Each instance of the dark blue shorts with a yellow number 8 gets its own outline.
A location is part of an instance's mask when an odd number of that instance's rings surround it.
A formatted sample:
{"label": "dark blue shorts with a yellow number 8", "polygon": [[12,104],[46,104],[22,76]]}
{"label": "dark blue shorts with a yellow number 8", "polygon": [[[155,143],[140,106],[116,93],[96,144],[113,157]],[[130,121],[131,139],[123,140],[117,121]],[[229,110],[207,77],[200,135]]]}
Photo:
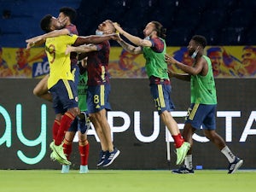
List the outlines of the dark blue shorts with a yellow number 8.
{"label": "dark blue shorts with a yellow number 8", "polygon": [[110,84],[100,84],[95,86],[88,86],[87,91],[87,108],[88,113],[97,113],[103,108],[111,110],[108,102],[108,95],[110,93]]}

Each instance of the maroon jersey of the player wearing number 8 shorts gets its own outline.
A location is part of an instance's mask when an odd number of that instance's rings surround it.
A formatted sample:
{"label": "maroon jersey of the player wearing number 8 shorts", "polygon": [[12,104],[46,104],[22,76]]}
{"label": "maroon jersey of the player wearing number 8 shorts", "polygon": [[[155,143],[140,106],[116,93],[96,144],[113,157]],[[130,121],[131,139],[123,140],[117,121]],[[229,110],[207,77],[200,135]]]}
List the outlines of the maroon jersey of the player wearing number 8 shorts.
{"label": "maroon jersey of the player wearing number 8 shorts", "polygon": [[88,85],[109,84],[108,60],[110,44],[104,41],[96,44],[97,51],[88,53]]}

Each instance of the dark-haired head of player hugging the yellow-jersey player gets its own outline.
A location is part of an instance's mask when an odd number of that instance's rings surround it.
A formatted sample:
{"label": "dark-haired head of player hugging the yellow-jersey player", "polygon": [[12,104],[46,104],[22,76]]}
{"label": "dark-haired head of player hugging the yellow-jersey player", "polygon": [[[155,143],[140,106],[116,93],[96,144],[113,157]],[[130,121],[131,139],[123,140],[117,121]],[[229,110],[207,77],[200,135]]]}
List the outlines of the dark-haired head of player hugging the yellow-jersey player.
{"label": "dark-haired head of player hugging the yellow-jersey player", "polygon": [[75,9],[63,7],[59,11],[58,20],[61,22],[62,26],[67,26],[76,19],[77,12]]}

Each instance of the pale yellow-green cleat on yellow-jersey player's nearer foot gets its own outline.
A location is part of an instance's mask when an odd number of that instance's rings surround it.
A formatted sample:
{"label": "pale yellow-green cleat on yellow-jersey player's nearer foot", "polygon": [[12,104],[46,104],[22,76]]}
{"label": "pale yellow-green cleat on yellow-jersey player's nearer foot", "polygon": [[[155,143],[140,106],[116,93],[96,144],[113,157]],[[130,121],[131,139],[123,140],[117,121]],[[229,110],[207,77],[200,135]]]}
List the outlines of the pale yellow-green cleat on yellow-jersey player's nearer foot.
{"label": "pale yellow-green cleat on yellow-jersey player's nearer foot", "polygon": [[62,145],[55,145],[54,142],[49,144],[49,148],[53,150],[53,152],[50,154],[51,160],[57,160],[62,165],[71,165],[71,162],[67,160],[66,155],[63,152]]}

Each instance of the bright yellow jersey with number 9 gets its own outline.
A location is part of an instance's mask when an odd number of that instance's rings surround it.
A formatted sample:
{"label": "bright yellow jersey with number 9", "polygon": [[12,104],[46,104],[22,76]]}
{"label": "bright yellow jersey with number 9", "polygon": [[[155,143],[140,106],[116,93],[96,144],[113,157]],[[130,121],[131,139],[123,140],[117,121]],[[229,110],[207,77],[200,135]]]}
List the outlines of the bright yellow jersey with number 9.
{"label": "bright yellow jersey with number 9", "polygon": [[48,89],[55,85],[60,79],[73,80],[70,54],[65,55],[65,51],[67,45],[74,44],[77,38],[77,35],[62,35],[46,39],[45,50],[49,61]]}

